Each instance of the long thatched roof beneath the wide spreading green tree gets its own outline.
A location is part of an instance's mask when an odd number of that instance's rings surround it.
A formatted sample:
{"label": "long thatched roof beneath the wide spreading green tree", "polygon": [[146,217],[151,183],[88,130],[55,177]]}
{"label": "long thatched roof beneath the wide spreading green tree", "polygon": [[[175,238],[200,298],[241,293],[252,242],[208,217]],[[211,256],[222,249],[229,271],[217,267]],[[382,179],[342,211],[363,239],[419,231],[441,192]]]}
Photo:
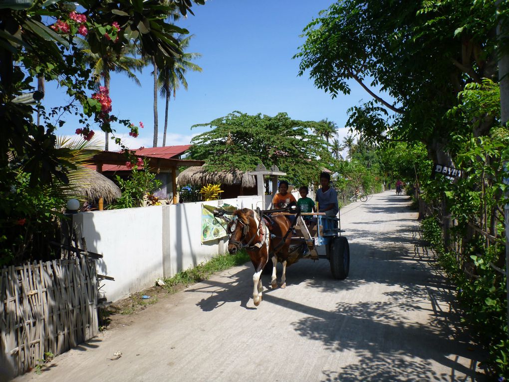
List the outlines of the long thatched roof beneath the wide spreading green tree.
{"label": "long thatched roof beneath the wide spreading green tree", "polygon": [[206,184],[239,184],[243,188],[256,187],[254,176],[240,170],[208,172],[204,167],[193,166],[185,169],[179,174],[177,184],[201,186]]}

